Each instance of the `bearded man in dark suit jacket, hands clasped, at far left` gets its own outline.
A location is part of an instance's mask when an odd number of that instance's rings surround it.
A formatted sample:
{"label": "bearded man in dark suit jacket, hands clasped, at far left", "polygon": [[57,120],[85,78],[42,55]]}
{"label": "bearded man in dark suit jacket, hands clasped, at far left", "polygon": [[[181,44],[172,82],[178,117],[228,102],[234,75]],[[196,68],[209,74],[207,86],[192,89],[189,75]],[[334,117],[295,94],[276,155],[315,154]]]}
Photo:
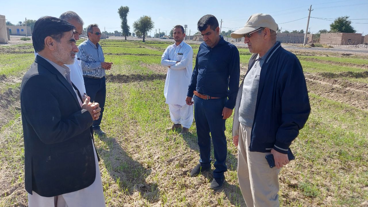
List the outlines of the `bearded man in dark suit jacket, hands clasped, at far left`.
{"label": "bearded man in dark suit jacket, hands clasped, at far left", "polygon": [[74,29],[41,17],[32,33],[38,55],[20,94],[29,207],[105,207],[91,129],[101,109],[83,101],[66,66],[78,52]]}

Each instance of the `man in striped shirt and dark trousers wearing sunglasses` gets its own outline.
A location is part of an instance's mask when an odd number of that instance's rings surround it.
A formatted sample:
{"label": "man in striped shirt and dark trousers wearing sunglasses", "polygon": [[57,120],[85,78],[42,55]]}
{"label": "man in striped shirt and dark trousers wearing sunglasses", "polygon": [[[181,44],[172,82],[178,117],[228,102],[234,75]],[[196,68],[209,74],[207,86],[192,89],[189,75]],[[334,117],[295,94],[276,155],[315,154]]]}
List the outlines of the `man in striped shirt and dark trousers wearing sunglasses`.
{"label": "man in striped shirt and dark trousers wearing sunglasses", "polygon": [[106,72],[111,69],[113,63],[105,62],[100,42],[101,31],[97,24],[87,26],[88,40],[79,44],[78,57],[82,61],[82,72],[86,93],[91,97],[91,102],[95,101],[100,104],[101,115],[98,120],[93,121],[93,132],[99,137],[105,136],[106,133],[101,130],[100,124],[106,100]]}

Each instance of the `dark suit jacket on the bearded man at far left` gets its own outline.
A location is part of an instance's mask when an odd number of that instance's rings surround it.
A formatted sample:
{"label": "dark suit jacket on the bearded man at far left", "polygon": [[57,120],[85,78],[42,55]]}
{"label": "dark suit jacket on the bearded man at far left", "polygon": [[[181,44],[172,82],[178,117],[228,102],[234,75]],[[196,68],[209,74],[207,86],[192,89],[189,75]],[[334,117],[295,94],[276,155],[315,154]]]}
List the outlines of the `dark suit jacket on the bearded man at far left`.
{"label": "dark suit jacket on the bearded man at far left", "polygon": [[37,56],[21,85],[25,189],[52,197],[95,181],[91,114],[66,78]]}

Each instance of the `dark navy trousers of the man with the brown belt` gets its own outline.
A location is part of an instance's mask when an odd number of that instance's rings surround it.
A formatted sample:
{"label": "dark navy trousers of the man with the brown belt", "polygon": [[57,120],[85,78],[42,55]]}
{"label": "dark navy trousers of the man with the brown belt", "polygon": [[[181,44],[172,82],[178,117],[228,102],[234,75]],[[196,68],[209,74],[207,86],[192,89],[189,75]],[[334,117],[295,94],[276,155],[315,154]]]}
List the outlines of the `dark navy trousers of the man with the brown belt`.
{"label": "dark navy trousers of the man with the brown belt", "polygon": [[[227,171],[226,156],[227,143],[225,137],[225,121],[222,119],[222,110],[226,104],[227,98],[222,99],[201,99],[194,96],[194,118],[197,126],[197,136],[199,153],[201,159],[199,163],[203,168],[211,167],[211,136],[213,143],[213,152],[215,154],[214,178],[222,178]],[[211,132],[211,136],[209,133]]]}

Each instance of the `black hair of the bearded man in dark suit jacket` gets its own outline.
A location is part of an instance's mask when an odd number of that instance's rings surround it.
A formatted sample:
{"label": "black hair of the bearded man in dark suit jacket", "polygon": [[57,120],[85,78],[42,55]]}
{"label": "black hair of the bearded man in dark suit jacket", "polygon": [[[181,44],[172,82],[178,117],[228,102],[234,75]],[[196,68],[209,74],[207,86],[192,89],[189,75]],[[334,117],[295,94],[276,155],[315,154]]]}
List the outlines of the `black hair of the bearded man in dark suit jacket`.
{"label": "black hair of the bearded man in dark suit jacket", "polygon": [[50,36],[57,42],[63,38],[64,32],[72,31],[75,27],[67,21],[56,17],[41,17],[35,22],[32,32],[32,44],[36,52],[45,48],[45,38]]}

